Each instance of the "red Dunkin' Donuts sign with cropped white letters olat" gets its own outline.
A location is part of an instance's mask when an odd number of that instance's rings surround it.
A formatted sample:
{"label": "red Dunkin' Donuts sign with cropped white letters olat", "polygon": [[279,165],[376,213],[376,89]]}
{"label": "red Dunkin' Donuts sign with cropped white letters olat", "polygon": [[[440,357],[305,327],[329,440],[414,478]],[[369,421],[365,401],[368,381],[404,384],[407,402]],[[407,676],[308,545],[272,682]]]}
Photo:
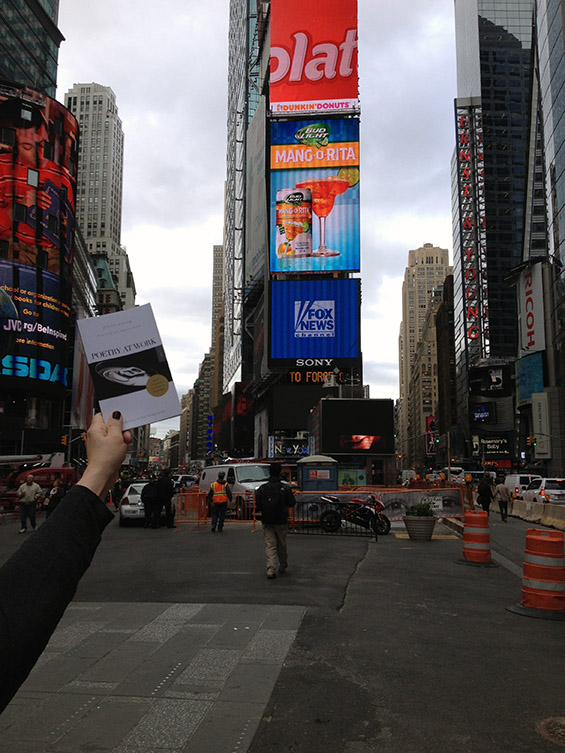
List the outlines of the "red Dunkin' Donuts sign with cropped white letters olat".
{"label": "red Dunkin' Donuts sign with cropped white letters olat", "polygon": [[359,108],[357,0],[272,0],[271,112]]}

